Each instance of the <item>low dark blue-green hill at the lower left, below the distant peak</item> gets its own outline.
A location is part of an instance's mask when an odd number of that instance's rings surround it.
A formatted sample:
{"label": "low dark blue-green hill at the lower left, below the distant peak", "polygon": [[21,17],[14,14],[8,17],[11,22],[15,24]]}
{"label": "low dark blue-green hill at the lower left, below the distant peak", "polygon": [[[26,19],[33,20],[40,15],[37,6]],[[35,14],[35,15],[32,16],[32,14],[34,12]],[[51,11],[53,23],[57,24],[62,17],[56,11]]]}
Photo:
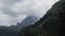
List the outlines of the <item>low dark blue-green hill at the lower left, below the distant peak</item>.
{"label": "low dark blue-green hill at the lower left, below the distant peak", "polygon": [[17,36],[18,31],[9,26],[0,26],[0,36]]}

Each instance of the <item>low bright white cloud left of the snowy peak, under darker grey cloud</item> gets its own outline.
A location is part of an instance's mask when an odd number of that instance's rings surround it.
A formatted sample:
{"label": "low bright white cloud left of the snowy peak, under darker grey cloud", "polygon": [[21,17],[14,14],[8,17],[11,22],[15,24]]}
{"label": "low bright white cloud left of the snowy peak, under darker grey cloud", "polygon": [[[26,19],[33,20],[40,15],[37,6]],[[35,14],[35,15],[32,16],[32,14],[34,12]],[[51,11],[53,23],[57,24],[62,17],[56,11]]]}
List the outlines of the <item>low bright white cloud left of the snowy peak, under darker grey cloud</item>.
{"label": "low bright white cloud left of the snowy peak, under darker grey cloud", "polygon": [[26,18],[26,15],[22,15],[18,17],[10,17],[2,12],[0,12],[0,25],[16,25],[17,22],[21,22],[24,18]]}

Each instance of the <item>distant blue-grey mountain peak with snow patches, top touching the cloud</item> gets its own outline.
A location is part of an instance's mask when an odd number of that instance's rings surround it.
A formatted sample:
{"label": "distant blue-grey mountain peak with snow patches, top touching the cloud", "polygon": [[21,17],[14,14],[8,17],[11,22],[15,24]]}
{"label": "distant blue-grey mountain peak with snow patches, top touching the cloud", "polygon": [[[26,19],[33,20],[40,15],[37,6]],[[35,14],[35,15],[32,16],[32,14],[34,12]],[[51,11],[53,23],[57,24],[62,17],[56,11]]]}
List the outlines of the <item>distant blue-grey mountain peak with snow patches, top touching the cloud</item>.
{"label": "distant blue-grey mountain peak with snow patches, top touching the cloud", "polygon": [[38,17],[28,16],[21,23],[17,23],[16,26],[18,29],[22,29],[23,26],[31,25],[31,24],[34,24],[37,21],[38,21]]}

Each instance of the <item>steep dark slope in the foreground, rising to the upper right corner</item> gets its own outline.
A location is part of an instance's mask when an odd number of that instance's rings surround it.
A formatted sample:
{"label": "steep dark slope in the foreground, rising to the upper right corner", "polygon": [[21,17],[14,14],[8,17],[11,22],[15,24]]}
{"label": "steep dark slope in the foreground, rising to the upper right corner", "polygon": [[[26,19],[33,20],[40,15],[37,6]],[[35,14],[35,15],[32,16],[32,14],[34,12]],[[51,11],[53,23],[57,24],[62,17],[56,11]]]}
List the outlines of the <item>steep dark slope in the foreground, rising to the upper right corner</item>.
{"label": "steep dark slope in the foreground, rising to the upper right corner", "polygon": [[38,22],[23,29],[18,36],[65,36],[65,1],[56,2]]}

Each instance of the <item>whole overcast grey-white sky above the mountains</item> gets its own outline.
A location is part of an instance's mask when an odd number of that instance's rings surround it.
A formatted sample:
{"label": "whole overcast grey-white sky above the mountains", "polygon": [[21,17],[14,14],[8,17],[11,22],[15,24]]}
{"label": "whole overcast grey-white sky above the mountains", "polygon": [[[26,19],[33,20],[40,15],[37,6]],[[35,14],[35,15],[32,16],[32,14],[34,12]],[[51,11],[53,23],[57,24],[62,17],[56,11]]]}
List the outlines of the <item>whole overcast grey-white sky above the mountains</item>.
{"label": "whole overcast grey-white sky above the mountains", "polygon": [[0,25],[15,25],[26,16],[41,18],[58,0],[0,0]]}

